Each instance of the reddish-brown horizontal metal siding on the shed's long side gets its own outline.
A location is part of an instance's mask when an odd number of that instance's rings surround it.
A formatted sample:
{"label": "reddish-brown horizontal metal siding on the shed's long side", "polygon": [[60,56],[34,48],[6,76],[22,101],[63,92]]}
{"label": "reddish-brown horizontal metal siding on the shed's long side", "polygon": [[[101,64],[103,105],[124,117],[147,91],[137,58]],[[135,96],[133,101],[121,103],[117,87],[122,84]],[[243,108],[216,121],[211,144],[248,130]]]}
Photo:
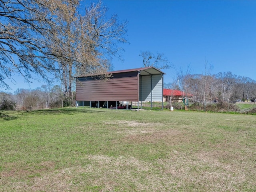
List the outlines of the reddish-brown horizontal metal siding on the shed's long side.
{"label": "reddish-brown horizontal metal siding on the shed's long side", "polygon": [[138,72],[113,74],[113,78],[77,78],[77,101],[138,101]]}

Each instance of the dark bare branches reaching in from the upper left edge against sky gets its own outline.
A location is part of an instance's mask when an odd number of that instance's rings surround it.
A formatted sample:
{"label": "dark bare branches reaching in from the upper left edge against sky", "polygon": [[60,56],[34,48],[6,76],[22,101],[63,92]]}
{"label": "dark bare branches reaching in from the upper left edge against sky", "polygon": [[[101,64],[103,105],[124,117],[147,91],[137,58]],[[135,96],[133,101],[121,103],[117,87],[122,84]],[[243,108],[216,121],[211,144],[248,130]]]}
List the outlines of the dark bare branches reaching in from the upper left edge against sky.
{"label": "dark bare branches reaching in from the upper left edge against sky", "polygon": [[4,81],[21,74],[31,82],[33,73],[47,78],[46,73],[55,70],[57,60],[66,55],[50,46],[56,34],[58,15],[54,10],[73,1],[58,0],[0,0],[0,86],[8,88]]}

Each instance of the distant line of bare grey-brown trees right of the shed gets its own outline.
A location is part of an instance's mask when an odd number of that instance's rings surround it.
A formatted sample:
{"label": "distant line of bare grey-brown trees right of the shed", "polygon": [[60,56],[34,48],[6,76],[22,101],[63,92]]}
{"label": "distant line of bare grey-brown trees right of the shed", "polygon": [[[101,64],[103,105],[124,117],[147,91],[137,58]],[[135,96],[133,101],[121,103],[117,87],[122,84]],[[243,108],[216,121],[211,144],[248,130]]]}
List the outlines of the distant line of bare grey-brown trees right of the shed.
{"label": "distant line of bare grey-brown trees right of the shed", "polygon": [[182,74],[165,88],[192,94],[196,102],[236,102],[256,99],[256,81],[248,77],[220,72],[218,74]]}

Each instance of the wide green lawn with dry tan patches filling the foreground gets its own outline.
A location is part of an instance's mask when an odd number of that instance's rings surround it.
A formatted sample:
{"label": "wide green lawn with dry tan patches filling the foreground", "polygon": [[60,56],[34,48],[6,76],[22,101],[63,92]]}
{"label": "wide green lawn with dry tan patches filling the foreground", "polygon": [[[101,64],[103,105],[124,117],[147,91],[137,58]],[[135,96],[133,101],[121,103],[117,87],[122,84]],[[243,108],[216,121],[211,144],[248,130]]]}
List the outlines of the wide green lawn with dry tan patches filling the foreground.
{"label": "wide green lawn with dry tan patches filling the foreground", "polygon": [[256,116],[1,112],[0,191],[256,191]]}

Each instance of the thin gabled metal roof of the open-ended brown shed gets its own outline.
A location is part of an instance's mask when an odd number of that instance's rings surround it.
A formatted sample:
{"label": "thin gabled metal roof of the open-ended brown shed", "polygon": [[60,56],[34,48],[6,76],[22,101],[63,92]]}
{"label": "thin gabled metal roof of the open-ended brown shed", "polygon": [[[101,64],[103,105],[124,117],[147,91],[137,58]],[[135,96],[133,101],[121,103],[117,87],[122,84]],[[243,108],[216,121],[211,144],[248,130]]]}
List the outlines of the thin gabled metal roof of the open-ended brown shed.
{"label": "thin gabled metal roof of the open-ended brown shed", "polygon": [[[126,69],[126,70],[118,70],[118,71],[108,71],[106,72],[106,74],[116,74],[116,73],[125,73],[125,72],[133,72],[133,71],[137,71],[140,72],[140,75],[144,76],[144,75],[156,75],[156,74],[166,74],[160,70],[158,70],[157,68],[154,67],[143,67],[143,68],[136,68],[136,69]],[[100,74],[99,74],[100,75]],[[91,76],[91,75],[87,75],[87,76]],[[86,76],[78,76],[78,77],[86,77]]]}

